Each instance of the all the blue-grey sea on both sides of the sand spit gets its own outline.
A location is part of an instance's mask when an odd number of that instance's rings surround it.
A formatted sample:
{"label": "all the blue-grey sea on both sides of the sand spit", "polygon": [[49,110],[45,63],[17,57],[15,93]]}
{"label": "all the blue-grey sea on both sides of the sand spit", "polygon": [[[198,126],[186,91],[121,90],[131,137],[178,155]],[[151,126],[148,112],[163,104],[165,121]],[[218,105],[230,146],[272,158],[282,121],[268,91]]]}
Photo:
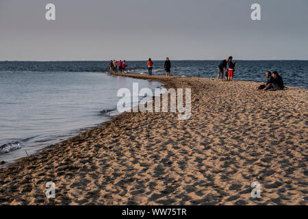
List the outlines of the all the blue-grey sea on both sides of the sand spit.
{"label": "all the blue-grey sea on both sides of the sand spit", "polygon": [[[171,75],[216,77],[220,61],[172,61]],[[157,88],[149,82],[107,74],[109,62],[0,62],[0,160],[11,162],[99,125],[116,114],[119,88]],[[147,73],[146,61],[127,62]],[[154,61],[164,75],[164,61]],[[266,81],[277,70],[287,86],[308,88],[308,61],[238,61],[234,79]]]}

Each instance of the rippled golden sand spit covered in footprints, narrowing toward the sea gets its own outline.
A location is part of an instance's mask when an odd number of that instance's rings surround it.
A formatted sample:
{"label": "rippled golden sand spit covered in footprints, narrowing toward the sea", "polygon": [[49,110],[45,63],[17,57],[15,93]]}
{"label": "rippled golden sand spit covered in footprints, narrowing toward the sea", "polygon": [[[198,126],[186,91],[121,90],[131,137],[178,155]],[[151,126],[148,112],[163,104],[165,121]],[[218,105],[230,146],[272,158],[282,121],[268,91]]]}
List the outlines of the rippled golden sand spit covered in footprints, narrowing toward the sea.
{"label": "rippled golden sand spit covered in footprints, narrowing toward the sea", "polygon": [[19,159],[0,170],[1,205],[307,205],[307,89],[125,76],[191,88],[191,118],[126,112]]}

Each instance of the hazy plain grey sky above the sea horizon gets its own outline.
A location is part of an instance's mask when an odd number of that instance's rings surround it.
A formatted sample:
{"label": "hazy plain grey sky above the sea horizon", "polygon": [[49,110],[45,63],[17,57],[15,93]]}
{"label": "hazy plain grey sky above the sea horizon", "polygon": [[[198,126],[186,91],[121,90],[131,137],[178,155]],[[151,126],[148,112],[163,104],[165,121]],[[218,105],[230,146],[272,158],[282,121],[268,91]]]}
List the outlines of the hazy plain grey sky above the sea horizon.
{"label": "hazy plain grey sky above the sea horizon", "polygon": [[308,60],[307,9],[307,0],[0,0],[0,60]]}

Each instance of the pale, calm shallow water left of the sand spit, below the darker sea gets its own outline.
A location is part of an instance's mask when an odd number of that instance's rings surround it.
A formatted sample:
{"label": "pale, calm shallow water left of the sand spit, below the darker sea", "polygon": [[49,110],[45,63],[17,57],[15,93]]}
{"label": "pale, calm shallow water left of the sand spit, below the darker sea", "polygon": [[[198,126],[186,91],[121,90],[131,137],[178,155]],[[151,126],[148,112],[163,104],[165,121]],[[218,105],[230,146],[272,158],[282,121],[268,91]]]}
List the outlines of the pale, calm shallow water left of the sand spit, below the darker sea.
{"label": "pale, calm shallow water left of the sand spit, below the darker sea", "polygon": [[106,73],[0,72],[0,161],[11,162],[117,114],[119,88],[161,83]]}

